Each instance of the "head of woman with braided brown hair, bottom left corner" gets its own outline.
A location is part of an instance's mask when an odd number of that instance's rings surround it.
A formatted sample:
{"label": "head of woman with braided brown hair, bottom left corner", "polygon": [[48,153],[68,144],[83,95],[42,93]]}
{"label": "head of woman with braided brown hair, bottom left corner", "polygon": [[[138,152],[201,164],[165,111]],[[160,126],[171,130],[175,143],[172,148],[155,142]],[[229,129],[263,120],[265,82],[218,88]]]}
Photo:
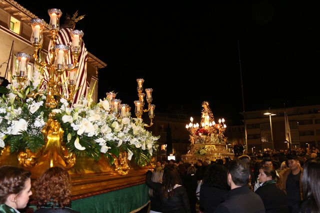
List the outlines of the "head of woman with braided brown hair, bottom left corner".
{"label": "head of woman with braided brown hair, bottom left corner", "polygon": [[24,208],[32,194],[31,172],[11,165],[0,167],[0,204]]}

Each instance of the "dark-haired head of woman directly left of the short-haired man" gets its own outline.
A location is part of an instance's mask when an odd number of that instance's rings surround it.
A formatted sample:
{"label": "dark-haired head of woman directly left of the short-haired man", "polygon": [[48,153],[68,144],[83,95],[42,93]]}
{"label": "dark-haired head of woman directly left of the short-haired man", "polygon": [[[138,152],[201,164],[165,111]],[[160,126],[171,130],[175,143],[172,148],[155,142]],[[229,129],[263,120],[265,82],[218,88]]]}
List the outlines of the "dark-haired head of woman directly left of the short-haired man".
{"label": "dark-haired head of woman directly left of the short-haired man", "polygon": [[216,163],[209,165],[204,173],[203,185],[227,189],[226,175],[225,166]]}

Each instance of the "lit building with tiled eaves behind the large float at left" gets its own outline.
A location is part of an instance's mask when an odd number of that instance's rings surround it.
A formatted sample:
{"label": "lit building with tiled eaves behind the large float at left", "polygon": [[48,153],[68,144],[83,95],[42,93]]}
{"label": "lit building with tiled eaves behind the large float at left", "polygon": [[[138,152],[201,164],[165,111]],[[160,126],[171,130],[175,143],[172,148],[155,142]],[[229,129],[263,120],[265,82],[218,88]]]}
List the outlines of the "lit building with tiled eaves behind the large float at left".
{"label": "lit building with tiled eaves behind the large float at left", "polygon": [[[26,8],[14,0],[0,0],[0,76],[10,80],[10,70],[8,66],[9,55],[16,52],[25,52],[30,55],[33,54],[33,47],[31,46],[30,36],[32,29],[30,26],[31,18],[37,18]],[[43,17],[41,17],[43,18]],[[43,48],[41,58],[45,58],[47,54],[47,47],[50,41],[49,27],[45,24],[43,29]],[[11,46],[13,43],[13,51]],[[90,49],[88,49],[89,51]],[[7,68],[8,66],[8,68]],[[33,61],[28,64],[30,70],[33,69]],[[87,83],[90,88],[94,90],[92,99],[97,101],[97,87],[98,87],[98,70],[106,66],[106,63],[98,59],[96,56],[88,52],[87,66]],[[31,73],[29,73],[29,77]],[[95,83],[96,82],[96,83]]]}

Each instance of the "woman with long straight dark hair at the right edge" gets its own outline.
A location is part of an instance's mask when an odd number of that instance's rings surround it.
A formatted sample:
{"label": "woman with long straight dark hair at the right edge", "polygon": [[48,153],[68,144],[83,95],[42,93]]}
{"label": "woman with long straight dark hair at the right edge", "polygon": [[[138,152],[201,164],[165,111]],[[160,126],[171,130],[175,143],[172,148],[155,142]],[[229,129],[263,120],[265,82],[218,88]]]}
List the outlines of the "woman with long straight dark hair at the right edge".
{"label": "woman with long straight dark hair at the right edge", "polygon": [[294,206],[292,212],[320,212],[320,160],[319,158],[304,162],[302,175],[303,200],[299,206]]}

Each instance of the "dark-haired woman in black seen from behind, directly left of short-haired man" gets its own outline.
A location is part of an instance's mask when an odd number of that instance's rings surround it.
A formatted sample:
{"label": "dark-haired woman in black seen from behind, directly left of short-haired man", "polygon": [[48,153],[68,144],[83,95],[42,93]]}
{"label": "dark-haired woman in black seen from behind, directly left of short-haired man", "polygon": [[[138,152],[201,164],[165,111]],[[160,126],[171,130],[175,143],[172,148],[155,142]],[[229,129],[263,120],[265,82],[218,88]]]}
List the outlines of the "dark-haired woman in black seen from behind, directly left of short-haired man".
{"label": "dark-haired woman in black seen from behind, directly left of short-haired man", "polygon": [[228,191],[227,170],[220,164],[210,165],[204,174],[200,189],[200,210],[213,212],[218,204],[224,201]]}

